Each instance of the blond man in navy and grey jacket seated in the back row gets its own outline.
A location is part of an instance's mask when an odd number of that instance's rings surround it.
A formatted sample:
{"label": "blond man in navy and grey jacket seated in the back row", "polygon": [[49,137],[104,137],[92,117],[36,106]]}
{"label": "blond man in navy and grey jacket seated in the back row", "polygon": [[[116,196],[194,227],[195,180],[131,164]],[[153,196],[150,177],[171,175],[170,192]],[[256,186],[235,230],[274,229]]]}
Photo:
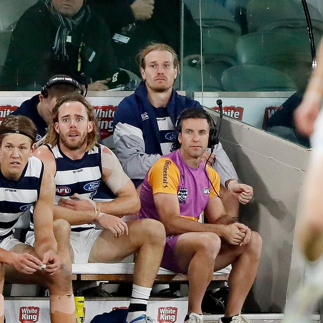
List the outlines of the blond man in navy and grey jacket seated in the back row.
{"label": "blond man in navy and grey jacket seated in the back row", "polygon": [[[144,81],[134,94],[120,102],[113,121],[116,155],[135,186],[139,186],[138,190],[149,168],[161,155],[171,151],[178,114],[188,107],[202,108],[199,102],[172,89],[179,63],[171,47],[150,45],[140,53],[139,61]],[[220,195],[226,212],[237,217],[238,201],[247,203],[253,195],[252,187],[238,182],[236,170],[221,143],[213,154],[209,161],[220,173]],[[205,161],[209,155],[205,152]]]}

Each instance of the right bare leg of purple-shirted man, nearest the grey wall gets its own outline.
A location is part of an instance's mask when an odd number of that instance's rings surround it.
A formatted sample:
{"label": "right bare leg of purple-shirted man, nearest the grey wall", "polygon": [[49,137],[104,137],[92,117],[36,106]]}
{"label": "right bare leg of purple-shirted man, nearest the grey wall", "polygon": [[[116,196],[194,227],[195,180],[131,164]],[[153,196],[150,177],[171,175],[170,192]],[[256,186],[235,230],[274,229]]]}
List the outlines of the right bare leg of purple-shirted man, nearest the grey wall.
{"label": "right bare leg of purple-shirted man, nearest the grey wall", "polygon": [[215,259],[214,270],[232,263],[226,317],[241,313],[242,305],[258,270],[261,247],[262,241],[256,232],[251,233],[250,241],[242,247],[222,243],[219,255]]}

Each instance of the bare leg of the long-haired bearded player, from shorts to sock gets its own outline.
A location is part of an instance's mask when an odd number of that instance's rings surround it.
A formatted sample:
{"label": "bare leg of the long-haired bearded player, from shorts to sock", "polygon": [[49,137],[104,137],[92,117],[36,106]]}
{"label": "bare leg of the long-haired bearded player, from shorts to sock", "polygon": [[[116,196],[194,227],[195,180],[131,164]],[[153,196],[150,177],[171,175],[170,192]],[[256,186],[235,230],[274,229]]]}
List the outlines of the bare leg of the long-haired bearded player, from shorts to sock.
{"label": "bare leg of the long-haired bearded player, from shorts to sock", "polygon": [[127,222],[129,234],[114,238],[104,230],[94,242],[89,262],[116,262],[138,251],[134,270],[134,283],[152,287],[156,278],[163,248],[165,229],[159,221],[144,219]]}

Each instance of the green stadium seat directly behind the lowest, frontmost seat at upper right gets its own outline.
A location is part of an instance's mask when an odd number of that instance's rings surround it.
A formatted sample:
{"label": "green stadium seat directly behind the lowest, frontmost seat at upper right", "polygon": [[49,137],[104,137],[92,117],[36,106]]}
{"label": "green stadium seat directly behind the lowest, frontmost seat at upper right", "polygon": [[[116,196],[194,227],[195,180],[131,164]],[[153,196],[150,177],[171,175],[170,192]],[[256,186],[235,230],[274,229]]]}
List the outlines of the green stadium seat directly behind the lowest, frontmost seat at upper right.
{"label": "green stadium seat directly behind the lowest, frontmost seat at upper right", "polygon": [[244,35],[237,42],[238,60],[241,64],[280,70],[299,88],[305,87],[312,71],[312,57],[310,43],[304,37],[302,42],[291,35],[270,31]]}

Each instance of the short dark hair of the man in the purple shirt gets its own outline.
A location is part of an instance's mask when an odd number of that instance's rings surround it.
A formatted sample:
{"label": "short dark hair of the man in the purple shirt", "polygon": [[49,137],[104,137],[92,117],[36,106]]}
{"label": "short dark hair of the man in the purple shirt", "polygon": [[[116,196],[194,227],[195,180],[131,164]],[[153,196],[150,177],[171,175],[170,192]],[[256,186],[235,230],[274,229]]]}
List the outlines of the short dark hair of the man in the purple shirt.
{"label": "short dark hair of the man in the purple shirt", "polygon": [[206,119],[209,125],[209,130],[212,128],[213,121],[210,114],[203,110],[202,108],[186,108],[179,113],[176,123],[175,131],[177,133],[176,141],[171,145],[171,150],[175,151],[180,148],[180,143],[178,141],[178,134],[182,131],[183,120],[185,119]]}

